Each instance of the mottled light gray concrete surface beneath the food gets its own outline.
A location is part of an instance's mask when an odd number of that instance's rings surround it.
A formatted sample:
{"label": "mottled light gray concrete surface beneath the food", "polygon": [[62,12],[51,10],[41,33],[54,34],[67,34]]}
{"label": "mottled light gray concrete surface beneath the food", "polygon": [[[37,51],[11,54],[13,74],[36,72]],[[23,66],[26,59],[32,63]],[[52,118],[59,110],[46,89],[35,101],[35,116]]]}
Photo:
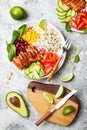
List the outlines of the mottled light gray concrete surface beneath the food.
{"label": "mottled light gray concrete surface beneath the food", "polygon": [[[87,130],[87,34],[65,31],[64,25],[56,17],[56,2],[57,0],[0,0],[0,130]],[[21,21],[13,20],[9,10],[14,5],[22,6],[27,11],[28,18]],[[76,52],[71,49],[67,57],[77,54],[82,48],[80,62],[76,64],[73,59],[66,60],[51,81],[51,83],[62,84],[71,90],[74,88],[78,90],[79,113],[76,120],[68,127],[47,122],[38,127],[35,126],[35,121],[40,116],[27,99],[26,90],[30,80],[18,73],[7,58],[6,41],[10,41],[12,30],[28,21],[43,18],[55,25],[66,38],[72,41],[72,47],[77,48]],[[72,65],[75,66],[74,79],[68,83],[61,82],[60,78],[71,72]],[[5,80],[10,71],[13,72],[13,76],[9,84],[6,85]],[[46,80],[41,80],[41,82],[47,83]],[[22,118],[8,108],[5,96],[9,91],[17,91],[23,95],[30,111],[29,118]]]}

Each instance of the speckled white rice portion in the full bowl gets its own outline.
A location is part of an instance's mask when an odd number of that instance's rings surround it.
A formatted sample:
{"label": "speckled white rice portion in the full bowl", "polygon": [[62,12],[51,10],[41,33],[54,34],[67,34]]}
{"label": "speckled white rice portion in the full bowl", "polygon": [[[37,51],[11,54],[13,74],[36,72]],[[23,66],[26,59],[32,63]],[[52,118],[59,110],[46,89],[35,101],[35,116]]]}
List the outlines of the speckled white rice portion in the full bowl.
{"label": "speckled white rice portion in the full bowl", "polygon": [[41,35],[33,45],[44,48],[46,51],[58,52],[61,50],[61,38],[59,32],[52,26],[47,26],[46,33]]}

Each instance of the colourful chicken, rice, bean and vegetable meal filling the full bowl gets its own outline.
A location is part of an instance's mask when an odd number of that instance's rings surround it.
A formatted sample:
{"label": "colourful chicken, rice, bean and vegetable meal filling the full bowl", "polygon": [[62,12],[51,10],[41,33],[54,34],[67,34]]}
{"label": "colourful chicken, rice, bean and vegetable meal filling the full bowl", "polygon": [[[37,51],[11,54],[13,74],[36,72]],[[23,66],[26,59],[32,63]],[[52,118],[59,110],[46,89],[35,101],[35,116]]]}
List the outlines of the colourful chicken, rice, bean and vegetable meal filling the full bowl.
{"label": "colourful chicken, rice, bean and vegetable meal filling the full bowl", "polygon": [[[44,33],[38,33],[36,26]],[[7,43],[8,59],[27,77],[41,79],[59,61],[62,40],[59,31],[45,19],[24,24],[13,31],[11,42]]]}

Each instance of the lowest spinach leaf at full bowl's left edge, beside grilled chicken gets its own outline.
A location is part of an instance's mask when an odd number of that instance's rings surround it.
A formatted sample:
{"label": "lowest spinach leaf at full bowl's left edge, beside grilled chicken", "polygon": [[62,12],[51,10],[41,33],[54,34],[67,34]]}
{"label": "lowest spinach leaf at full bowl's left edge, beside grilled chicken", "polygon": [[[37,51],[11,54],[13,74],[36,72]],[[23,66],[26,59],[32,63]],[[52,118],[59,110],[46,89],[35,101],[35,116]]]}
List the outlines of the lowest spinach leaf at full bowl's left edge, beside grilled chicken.
{"label": "lowest spinach leaf at full bowl's left edge, beside grilled chicken", "polygon": [[16,56],[16,47],[14,44],[7,43],[7,51],[8,51],[8,59],[12,61],[12,59]]}

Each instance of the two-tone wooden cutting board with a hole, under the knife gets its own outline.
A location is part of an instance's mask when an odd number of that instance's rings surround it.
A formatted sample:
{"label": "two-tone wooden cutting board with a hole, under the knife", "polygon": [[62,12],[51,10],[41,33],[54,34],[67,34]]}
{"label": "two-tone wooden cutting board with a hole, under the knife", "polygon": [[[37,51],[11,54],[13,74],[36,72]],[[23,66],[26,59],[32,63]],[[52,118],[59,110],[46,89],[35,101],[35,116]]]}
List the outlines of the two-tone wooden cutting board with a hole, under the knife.
{"label": "two-tone wooden cutting board with a hole, under the knife", "polygon": [[[60,85],[43,84],[36,81],[33,81],[29,84],[27,89],[28,99],[41,116],[47,113],[61,100],[61,98],[55,99],[55,94],[58,91],[59,86]],[[54,98],[53,104],[50,104],[46,101],[46,99],[43,97],[43,92],[49,92],[53,96]],[[68,94],[69,92],[70,90],[65,88],[65,95]],[[62,111],[65,108],[65,106],[68,105],[74,106],[76,110],[64,116],[62,114]],[[75,95],[73,95],[60,109],[56,110],[49,118],[47,118],[47,121],[60,124],[63,126],[68,126],[75,119],[78,112],[78,108],[79,108],[78,99]]]}

